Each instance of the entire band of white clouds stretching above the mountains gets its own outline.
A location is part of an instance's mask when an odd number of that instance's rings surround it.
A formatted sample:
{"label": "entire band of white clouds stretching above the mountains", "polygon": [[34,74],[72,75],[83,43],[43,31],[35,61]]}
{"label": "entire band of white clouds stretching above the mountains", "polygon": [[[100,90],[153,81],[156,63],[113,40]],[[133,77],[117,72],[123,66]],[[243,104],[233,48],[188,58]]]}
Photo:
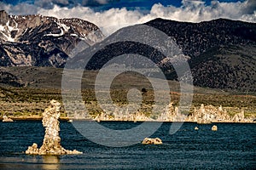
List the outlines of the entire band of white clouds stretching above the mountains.
{"label": "entire band of white clouds stretching above the mountains", "polygon": [[[104,3],[105,0],[97,0]],[[244,20],[256,22],[256,10],[254,0],[247,0],[243,3],[219,3],[212,1],[211,5],[206,5],[202,1],[183,0],[182,7],[165,7],[160,3],[154,4],[149,14],[143,14],[139,10],[127,10],[126,8],[111,8],[103,12],[95,12],[91,8],[76,6],[73,8],[54,6],[51,9],[36,8],[30,5],[23,6],[18,10],[17,6],[5,5],[5,10],[9,13],[18,13],[32,9],[38,14],[55,16],[57,18],[80,18],[89,20],[99,26],[105,35],[110,35],[113,31],[124,26],[145,23],[155,18],[168,20],[199,22],[202,20],[213,20],[217,18],[227,18],[231,20]]]}

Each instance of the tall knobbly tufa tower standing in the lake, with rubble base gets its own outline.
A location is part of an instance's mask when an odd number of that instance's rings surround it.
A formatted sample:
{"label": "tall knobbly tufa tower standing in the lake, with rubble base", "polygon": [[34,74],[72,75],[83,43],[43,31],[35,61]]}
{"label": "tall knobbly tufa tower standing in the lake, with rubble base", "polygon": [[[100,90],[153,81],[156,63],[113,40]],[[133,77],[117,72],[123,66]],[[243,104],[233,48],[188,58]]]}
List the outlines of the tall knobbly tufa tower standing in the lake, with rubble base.
{"label": "tall knobbly tufa tower standing in the lake, with rubble base", "polygon": [[82,154],[78,150],[65,150],[61,146],[61,138],[59,136],[61,104],[52,99],[50,106],[44,110],[43,113],[43,126],[45,127],[44,142],[38,149],[38,144],[33,143],[26,150],[26,154],[30,155],[65,155],[65,154]]}

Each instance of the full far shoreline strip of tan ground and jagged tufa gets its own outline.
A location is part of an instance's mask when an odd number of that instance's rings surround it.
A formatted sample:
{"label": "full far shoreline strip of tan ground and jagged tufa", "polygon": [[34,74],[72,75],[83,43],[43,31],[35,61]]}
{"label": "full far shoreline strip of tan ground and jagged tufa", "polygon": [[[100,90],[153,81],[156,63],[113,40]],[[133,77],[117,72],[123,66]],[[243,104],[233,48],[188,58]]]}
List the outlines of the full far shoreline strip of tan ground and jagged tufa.
{"label": "full far shoreline strip of tan ground and jagged tufa", "polygon": [[[3,119],[5,118],[5,119]],[[0,117],[0,120],[6,122],[7,118],[14,121],[40,121],[43,116],[4,116]],[[178,107],[166,105],[166,109],[156,118],[146,116],[142,112],[129,113],[128,111],[119,111],[116,109],[113,113],[101,113],[94,117],[86,117],[84,113],[78,113],[77,115],[61,116],[59,118],[61,121],[72,122],[75,121],[96,121],[96,122],[196,122],[198,124],[208,124],[215,122],[231,122],[231,123],[256,123],[255,117],[245,117],[244,111],[236,113],[235,116],[230,116],[227,111],[225,111],[222,106],[215,107],[212,105],[201,105],[199,109],[196,109],[189,114],[189,116],[184,116],[178,110]]]}

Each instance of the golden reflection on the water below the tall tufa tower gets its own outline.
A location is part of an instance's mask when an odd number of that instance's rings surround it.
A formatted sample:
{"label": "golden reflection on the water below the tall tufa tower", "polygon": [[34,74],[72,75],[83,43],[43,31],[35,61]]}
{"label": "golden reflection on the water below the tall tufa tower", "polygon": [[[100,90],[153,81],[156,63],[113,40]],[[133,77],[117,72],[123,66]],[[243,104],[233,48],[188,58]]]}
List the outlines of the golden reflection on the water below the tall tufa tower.
{"label": "golden reflection on the water below the tall tufa tower", "polygon": [[59,156],[43,156],[43,169],[60,169]]}

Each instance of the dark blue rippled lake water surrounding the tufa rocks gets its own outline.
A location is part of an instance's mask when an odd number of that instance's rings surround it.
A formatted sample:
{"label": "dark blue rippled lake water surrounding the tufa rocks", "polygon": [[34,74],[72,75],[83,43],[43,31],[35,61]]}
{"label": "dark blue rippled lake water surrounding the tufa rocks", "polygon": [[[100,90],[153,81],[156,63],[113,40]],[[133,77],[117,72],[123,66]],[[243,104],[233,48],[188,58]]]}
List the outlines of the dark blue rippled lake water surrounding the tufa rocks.
{"label": "dark blue rippled lake water surrounding the tufa rocks", "polygon": [[[101,124],[125,129],[140,123]],[[163,123],[151,136],[164,144],[114,148],[90,142],[72,123],[61,122],[61,145],[84,154],[27,156],[29,145],[43,143],[42,122],[0,122],[0,169],[256,169],[256,124],[216,123],[218,131],[213,132],[212,124],[183,123],[172,135],[171,125]]]}

